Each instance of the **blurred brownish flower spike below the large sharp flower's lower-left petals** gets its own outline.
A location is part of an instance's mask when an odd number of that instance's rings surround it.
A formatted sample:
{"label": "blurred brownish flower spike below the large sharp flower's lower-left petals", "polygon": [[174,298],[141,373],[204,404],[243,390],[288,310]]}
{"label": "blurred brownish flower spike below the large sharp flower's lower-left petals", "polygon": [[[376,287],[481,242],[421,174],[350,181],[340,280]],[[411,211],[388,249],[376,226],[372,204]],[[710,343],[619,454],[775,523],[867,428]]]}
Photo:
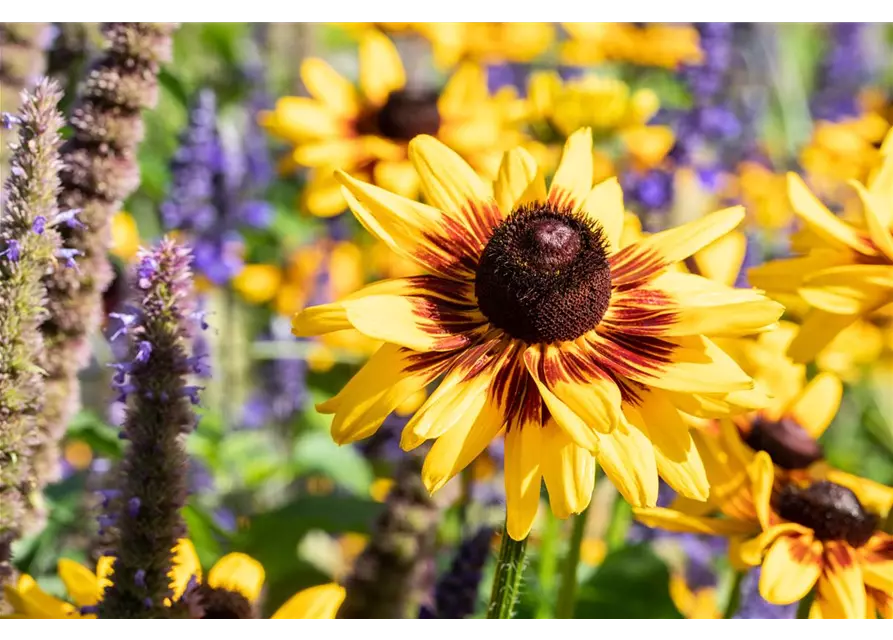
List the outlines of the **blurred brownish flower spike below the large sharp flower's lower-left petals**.
{"label": "blurred brownish flower spike below the large sharp flower's lower-left petals", "polygon": [[344,585],[347,594],[338,620],[415,618],[439,516],[422,484],[421,471],[418,450],[407,454],[397,467],[384,512]]}

